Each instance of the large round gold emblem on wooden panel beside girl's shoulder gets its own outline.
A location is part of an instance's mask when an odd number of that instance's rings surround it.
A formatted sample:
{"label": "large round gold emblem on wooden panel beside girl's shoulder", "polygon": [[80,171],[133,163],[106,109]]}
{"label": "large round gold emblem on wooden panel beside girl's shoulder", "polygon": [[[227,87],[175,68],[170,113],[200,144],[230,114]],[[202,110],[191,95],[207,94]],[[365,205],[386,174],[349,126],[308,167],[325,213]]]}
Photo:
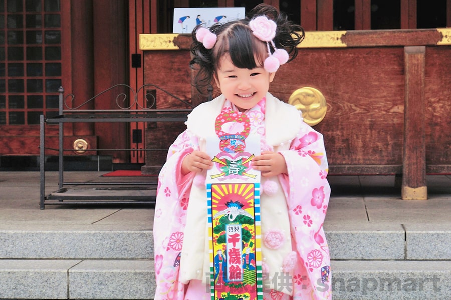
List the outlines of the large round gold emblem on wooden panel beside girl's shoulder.
{"label": "large round gold emblem on wooden panel beside girl's shoulder", "polygon": [[313,87],[302,87],[295,90],[288,99],[288,104],[301,110],[304,122],[310,126],[320,123],[326,116],[326,99],[318,89]]}

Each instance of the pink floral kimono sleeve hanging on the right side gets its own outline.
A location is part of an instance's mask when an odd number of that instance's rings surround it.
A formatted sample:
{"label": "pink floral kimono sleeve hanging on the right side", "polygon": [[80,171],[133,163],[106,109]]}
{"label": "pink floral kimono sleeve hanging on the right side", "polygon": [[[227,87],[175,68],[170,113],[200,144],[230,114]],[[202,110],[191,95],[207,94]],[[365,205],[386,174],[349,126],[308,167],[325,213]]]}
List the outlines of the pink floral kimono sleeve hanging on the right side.
{"label": "pink floral kimono sleeve hanging on the right side", "polygon": [[280,152],[287,163],[283,184],[287,196],[293,245],[300,261],[293,273],[293,298],[330,299],[330,254],[323,223],[330,197],[323,136],[301,126],[290,150]]}

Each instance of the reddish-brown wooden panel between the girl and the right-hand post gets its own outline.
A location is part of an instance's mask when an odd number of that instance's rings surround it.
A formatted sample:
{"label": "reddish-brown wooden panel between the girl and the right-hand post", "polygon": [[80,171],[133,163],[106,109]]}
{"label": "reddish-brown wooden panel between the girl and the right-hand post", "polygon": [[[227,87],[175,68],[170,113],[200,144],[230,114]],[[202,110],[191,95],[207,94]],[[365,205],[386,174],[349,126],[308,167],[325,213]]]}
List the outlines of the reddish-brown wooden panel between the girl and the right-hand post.
{"label": "reddish-brown wooden panel between the girl and the right-hand post", "polygon": [[270,91],[288,101],[305,86],[320,90],[328,103],[316,129],[331,165],[402,164],[402,47],[301,49],[279,69]]}

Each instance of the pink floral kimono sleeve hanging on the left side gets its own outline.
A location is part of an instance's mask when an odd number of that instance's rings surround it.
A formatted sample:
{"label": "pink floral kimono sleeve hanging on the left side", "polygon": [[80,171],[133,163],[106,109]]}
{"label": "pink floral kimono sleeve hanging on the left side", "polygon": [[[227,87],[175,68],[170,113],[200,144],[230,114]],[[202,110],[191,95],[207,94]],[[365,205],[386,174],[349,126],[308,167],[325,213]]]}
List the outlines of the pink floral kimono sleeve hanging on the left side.
{"label": "pink floral kimono sleeve hanging on the left side", "polygon": [[169,147],[166,163],[158,176],[153,226],[155,251],[155,300],[183,300],[184,284],[179,280],[180,252],[186,225],[186,209],[194,174],[181,175],[186,155],[198,148],[188,130]]}

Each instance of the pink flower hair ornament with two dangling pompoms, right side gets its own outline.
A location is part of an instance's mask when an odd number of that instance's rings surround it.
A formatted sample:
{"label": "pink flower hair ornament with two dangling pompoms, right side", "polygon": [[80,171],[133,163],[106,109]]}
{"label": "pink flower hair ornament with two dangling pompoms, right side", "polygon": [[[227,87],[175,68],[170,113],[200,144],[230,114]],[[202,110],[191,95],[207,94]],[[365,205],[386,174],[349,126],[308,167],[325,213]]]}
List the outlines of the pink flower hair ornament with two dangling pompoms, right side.
{"label": "pink flower hair ornament with two dangling pompoms, right side", "polygon": [[[279,69],[279,66],[287,63],[289,59],[288,52],[284,49],[277,49],[274,44],[273,39],[276,36],[277,24],[273,20],[262,15],[251,20],[249,22],[249,27],[255,37],[266,42],[268,46],[268,57],[263,62],[263,67],[266,71],[274,73]],[[270,46],[275,49],[273,54],[271,54]]]}

